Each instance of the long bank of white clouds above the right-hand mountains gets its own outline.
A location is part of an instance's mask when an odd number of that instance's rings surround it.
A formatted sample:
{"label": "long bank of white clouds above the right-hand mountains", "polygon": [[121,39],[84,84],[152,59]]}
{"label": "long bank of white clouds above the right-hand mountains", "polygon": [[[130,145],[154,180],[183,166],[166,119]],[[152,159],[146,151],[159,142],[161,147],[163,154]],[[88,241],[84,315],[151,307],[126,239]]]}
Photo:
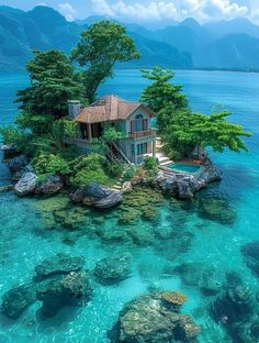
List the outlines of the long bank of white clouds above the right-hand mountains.
{"label": "long bank of white clouds above the right-hand mountains", "polygon": [[131,21],[162,21],[165,19],[183,20],[193,16],[201,22],[219,19],[234,19],[248,14],[248,7],[232,0],[164,0],[133,1],[91,0],[95,14]]}

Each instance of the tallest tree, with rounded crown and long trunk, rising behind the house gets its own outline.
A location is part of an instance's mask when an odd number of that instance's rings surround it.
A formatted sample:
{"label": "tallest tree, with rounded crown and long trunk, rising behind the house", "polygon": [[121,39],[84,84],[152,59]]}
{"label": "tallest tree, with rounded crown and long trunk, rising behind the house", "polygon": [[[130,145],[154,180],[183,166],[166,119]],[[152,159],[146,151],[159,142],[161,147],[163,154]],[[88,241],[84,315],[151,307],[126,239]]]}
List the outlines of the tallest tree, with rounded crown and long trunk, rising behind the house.
{"label": "tallest tree, with rounded crown and long trunk, rising behind the house", "polygon": [[89,102],[97,97],[98,87],[113,76],[116,62],[139,58],[133,38],[126,29],[112,21],[101,21],[82,32],[71,58],[86,68],[85,88]]}

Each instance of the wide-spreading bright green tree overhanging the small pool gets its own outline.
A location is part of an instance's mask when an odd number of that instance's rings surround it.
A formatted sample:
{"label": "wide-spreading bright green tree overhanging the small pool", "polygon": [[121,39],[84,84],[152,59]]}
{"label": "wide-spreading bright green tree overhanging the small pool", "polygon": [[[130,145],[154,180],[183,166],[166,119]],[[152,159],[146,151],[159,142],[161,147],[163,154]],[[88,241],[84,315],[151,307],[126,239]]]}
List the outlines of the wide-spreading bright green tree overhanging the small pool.
{"label": "wide-spreading bright green tree overhanging the small pool", "polygon": [[219,153],[225,148],[247,151],[243,137],[251,134],[241,125],[228,122],[230,113],[227,111],[205,115],[190,110],[176,111],[172,106],[168,106],[161,110],[161,114],[170,118],[162,133],[165,148],[169,154],[177,152],[179,157],[183,157],[194,148],[202,152],[206,147]]}

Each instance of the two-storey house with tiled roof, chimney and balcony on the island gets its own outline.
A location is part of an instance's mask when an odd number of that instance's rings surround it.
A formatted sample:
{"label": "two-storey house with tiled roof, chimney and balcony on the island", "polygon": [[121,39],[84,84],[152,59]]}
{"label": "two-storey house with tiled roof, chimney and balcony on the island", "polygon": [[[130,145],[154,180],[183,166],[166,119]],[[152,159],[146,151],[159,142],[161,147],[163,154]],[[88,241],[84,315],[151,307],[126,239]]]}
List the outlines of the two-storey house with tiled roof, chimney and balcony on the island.
{"label": "two-storey house with tiled roof, chimney and balcony on the island", "polygon": [[79,101],[69,101],[69,115],[79,124],[80,146],[91,145],[93,139],[102,136],[106,125],[113,125],[125,134],[125,139],[113,142],[110,155],[114,159],[140,164],[146,155],[156,155],[156,131],[151,128],[155,113],[140,102],[131,102],[115,96],[106,96],[87,108]]}

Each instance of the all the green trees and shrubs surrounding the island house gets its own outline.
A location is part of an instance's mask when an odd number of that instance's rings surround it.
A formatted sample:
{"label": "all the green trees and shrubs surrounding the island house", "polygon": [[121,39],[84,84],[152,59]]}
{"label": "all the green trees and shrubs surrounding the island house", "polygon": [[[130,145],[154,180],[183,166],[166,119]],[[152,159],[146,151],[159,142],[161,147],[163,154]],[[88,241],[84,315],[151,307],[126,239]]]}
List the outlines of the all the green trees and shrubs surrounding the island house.
{"label": "all the green trees and shrubs surrounding the island house", "polygon": [[[92,103],[100,85],[113,77],[116,63],[139,56],[126,29],[111,21],[94,23],[85,31],[70,57],[60,51],[34,52],[34,59],[27,64],[31,84],[18,91],[21,112],[15,123],[2,126],[0,133],[3,144],[12,144],[31,159],[37,184],[53,176],[69,188],[91,182],[112,186],[122,176],[124,181],[134,177],[154,180],[158,164],[151,157],[138,168],[106,158],[108,143],[123,139],[123,133],[112,126],[93,142],[90,155],[81,154],[72,143],[77,123],[67,110],[69,99]],[[150,85],[140,101],[157,113],[158,132],[171,159],[192,158],[193,152],[202,158],[206,147],[247,151],[243,137],[250,133],[229,123],[226,110],[211,115],[193,113],[182,86],[172,82],[172,70],[155,67],[143,70],[143,76]]]}

